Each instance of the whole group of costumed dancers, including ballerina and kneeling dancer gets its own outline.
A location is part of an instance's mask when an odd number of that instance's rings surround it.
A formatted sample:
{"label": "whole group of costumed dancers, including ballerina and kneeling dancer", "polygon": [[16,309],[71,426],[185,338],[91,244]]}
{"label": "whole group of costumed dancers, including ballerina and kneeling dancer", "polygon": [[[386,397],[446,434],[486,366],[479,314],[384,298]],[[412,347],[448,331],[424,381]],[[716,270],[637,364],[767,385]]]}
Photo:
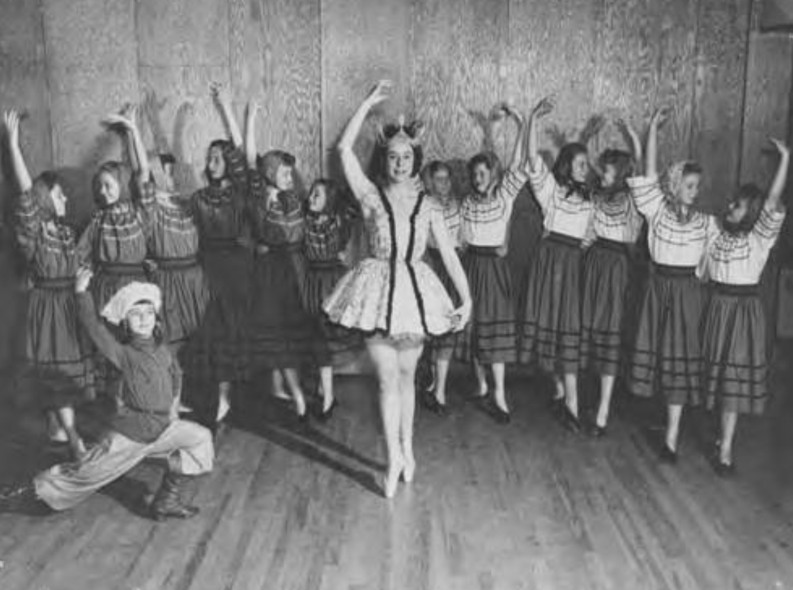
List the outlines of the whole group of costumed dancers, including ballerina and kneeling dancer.
{"label": "whole group of costumed dancers, including ballerina and kneeling dancer", "polygon": [[[29,176],[19,117],[6,113],[17,242],[31,285],[25,374],[45,400],[51,439],[73,456],[4,490],[0,506],[70,508],[160,456],[168,467],[151,515],[189,517],[197,508],[184,503],[182,488],[212,469],[214,451],[208,428],[180,418],[183,373],[212,400],[213,423],[231,408],[232,384],[258,383],[258,374],[307,420],[300,370],[314,367],[316,414],[328,420],[338,405],[334,367],[363,348],[377,376],[386,497],[416,473],[416,367],[424,347],[435,378],[423,401],[439,415],[454,359],[473,366],[473,397],[488,399],[492,416],[508,423],[505,366],[522,363],[553,376],[554,414],[565,427],[602,436],[623,375],[631,392],[664,400],[659,451],[668,462],[677,457],[684,407],[705,400],[722,416],[714,467],[732,473],[737,416],[763,412],[768,398],[757,285],[784,219],[785,144],[772,140],[780,162],[768,194],[741,186],[717,218],[695,207],[707,174],[699,164],[675,163],[658,174],[664,109],[649,121],[644,149],[623,123],[630,151],[608,148],[591,161],[586,145],[566,144],[549,170],[538,126],[553,102],[543,99],[527,117],[500,105],[518,131],[511,161],[502,168],[490,152],[474,155],[469,193],[458,198],[447,163],[423,167],[418,122],[400,118],[378,128],[371,174],[363,170],[354,144],[370,111],[389,98],[392,83],[384,80],[339,140],[349,199],[324,178],[301,193],[292,155],[257,152],[258,105],[248,105],[243,137],[224,88],[211,90],[228,139],[209,145],[207,186],[179,194],[173,156],[149,157],[136,109],[127,106],[105,122],[128,142],[129,162],[99,167],[97,209],[81,236],[65,221],[57,175]],[[525,283],[515,285],[504,255],[527,183],[544,234],[526,253]],[[366,255],[348,267],[356,226]],[[629,252],[643,226],[649,278],[628,331]],[[583,423],[578,404],[584,369],[600,376],[591,423]],[[117,407],[107,433],[88,448],[73,408],[95,389]]]}

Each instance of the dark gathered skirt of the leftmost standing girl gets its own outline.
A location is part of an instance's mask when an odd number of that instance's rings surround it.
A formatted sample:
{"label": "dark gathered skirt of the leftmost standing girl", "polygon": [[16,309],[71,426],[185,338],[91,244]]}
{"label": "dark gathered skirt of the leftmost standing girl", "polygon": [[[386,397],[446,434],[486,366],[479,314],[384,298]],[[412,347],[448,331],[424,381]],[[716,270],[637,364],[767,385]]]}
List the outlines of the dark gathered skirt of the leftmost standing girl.
{"label": "dark gathered skirt of the leftmost standing girl", "polygon": [[28,401],[44,409],[90,398],[90,347],[79,324],[74,289],[70,278],[40,279],[30,292],[20,377]]}

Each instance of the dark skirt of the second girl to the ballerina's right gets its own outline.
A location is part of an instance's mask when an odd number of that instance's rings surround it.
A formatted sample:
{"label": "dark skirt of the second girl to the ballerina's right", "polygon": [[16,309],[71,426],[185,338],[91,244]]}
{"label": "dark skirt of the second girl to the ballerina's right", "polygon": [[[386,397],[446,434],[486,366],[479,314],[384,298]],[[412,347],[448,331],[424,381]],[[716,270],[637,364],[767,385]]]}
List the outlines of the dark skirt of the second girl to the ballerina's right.
{"label": "dark skirt of the second girl to the ballerina's right", "polygon": [[515,299],[512,275],[496,247],[469,246],[462,257],[473,307],[465,329],[458,333],[454,358],[485,364],[515,362]]}

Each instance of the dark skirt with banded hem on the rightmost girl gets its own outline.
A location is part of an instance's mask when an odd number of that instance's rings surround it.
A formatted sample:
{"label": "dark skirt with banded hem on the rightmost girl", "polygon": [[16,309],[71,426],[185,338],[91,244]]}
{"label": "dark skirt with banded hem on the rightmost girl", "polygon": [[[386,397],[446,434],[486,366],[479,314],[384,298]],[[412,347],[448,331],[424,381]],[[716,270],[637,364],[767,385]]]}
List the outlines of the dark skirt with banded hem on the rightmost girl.
{"label": "dark skirt with banded hem on the rightmost girl", "polygon": [[768,400],[765,314],[757,285],[713,286],[703,329],[709,406],[761,414]]}

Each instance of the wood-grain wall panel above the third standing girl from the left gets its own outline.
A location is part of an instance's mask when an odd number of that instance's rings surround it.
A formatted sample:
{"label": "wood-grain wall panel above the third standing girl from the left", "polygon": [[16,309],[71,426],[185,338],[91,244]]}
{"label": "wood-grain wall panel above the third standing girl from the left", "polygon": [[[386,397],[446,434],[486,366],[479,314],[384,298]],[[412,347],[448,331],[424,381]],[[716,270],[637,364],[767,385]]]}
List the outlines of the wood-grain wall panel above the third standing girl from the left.
{"label": "wood-grain wall panel above the third standing girl from the left", "polygon": [[138,0],[136,30],[144,138],[149,147],[174,153],[179,188],[189,192],[204,183],[209,143],[226,137],[209,86],[231,86],[228,7],[213,0]]}

